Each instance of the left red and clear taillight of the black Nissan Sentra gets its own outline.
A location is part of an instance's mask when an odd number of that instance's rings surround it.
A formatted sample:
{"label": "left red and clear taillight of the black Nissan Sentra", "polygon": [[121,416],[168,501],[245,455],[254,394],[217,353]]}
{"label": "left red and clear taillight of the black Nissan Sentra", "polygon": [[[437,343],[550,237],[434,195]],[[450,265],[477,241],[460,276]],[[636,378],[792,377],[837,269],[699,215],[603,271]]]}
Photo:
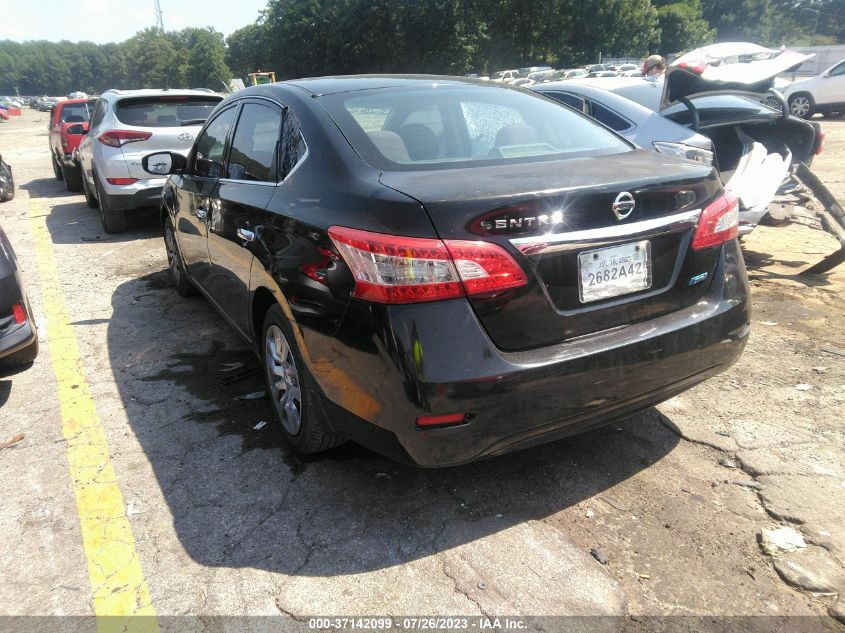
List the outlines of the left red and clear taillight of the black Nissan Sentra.
{"label": "left red and clear taillight of the black Nissan Sentra", "polygon": [[376,303],[439,301],[528,282],[497,244],[370,233],[333,226],[329,236],[355,277],[354,296]]}

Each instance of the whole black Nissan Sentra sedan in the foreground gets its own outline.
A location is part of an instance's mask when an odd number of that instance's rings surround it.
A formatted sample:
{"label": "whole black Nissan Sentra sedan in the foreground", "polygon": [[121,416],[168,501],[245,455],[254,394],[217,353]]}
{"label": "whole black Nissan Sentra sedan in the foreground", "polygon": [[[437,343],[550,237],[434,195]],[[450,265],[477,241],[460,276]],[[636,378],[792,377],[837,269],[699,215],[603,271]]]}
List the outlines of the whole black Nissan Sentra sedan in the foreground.
{"label": "whole black Nissan Sentra sedan in the foreground", "polygon": [[736,199],[540,95],[303,79],[224,100],[172,174],[176,288],[261,358],[282,430],[459,464],[629,415],[749,332]]}

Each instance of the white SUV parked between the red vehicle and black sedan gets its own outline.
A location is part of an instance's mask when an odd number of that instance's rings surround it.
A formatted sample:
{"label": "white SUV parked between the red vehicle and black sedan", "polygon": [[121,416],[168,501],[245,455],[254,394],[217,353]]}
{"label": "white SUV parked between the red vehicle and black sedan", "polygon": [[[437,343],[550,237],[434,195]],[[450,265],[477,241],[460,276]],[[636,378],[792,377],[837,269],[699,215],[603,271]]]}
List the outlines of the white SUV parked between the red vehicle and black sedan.
{"label": "white SUV parked between the red vehicle and black sedan", "polygon": [[97,100],[77,162],[85,199],[100,208],[106,233],[126,228],[126,212],[159,202],[166,178],[141,167],[151,152],[187,155],[222,100],[200,90],[107,90]]}

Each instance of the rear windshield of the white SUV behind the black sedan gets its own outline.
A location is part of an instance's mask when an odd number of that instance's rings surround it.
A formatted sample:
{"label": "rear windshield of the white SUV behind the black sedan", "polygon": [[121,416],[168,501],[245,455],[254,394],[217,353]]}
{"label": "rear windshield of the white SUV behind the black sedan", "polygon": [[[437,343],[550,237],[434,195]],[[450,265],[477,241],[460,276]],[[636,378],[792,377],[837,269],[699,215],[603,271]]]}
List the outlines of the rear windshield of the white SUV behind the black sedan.
{"label": "rear windshield of the white SUV behind the black sedan", "polygon": [[117,120],[139,127],[198,125],[208,118],[222,97],[136,97],[123,99],[115,107]]}

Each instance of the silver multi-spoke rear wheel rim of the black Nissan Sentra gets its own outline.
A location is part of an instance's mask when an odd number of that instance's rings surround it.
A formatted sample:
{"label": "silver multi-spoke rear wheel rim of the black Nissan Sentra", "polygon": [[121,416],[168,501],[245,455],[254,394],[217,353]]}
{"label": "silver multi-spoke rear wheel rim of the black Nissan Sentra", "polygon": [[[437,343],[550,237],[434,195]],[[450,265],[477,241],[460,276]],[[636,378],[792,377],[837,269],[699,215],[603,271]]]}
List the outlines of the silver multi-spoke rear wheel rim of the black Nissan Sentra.
{"label": "silver multi-spoke rear wheel rim of the black Nissan Sentra", "polygon": [[264,339],[264,362],[273,406],[285,431],[291,435],[299,433],[302,426],[302,397],[299,387],[299,373],[288,340],[281,328],[271,325]]}

